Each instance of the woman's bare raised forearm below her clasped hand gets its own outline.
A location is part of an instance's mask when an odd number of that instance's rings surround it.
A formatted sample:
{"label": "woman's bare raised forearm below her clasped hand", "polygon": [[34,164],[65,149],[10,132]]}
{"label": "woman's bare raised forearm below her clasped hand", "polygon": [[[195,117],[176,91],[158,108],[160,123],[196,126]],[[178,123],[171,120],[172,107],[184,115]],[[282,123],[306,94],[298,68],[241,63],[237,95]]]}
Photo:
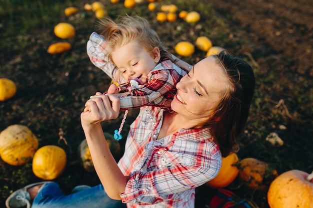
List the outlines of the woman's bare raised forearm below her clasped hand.
{"label": "woman's bare raised forearm below her clasped hand", "polygon": [[101,126],[84,126],[83,130],[94,169],[106,194],[111,199],[120,200],[119,194],[125,191],[127,177],[122,174],[110,153]]}

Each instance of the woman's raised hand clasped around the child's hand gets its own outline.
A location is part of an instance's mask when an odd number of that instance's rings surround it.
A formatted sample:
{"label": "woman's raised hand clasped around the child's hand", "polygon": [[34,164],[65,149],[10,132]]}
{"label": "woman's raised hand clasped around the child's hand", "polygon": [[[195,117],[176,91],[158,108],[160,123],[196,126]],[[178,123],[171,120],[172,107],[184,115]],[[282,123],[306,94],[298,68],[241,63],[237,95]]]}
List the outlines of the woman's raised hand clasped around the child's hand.
{"label": "woman's raised hand clasped around the child's hand", "polygon": [[85,108],[80,114],[81,124],[87,126],[98,125],[102,121],[118,117],[119,99],[111,94],[103,95],[97,92],[85,103]]}

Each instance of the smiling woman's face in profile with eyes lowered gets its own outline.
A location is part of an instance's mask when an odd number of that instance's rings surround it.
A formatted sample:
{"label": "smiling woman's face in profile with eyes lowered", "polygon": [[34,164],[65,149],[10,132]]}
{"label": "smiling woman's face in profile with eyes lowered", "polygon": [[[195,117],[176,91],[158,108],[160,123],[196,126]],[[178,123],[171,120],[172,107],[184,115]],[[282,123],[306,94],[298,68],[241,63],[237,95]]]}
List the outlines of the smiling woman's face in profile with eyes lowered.
{"label": "smiling woman's face in profile with eyes lowered", "polygon": [[177,93],[171,108],[190,121],[202,124],[212,113],[227,87],[223,69],[209,56],[195,64],[190,72],[177,83]]}

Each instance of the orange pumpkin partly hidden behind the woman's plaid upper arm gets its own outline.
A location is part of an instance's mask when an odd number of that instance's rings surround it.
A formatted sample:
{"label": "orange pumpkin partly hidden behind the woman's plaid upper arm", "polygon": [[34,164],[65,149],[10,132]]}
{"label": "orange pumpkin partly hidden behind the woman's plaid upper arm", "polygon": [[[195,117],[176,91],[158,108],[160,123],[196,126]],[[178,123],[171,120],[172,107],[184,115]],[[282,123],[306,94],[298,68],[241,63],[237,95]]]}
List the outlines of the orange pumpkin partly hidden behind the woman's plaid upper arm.
{"label": "orange pumpkin partly hidden behind the woman's plaid upper arm", "polygon": [[235,153],[221,159],[221,167],[217,176],[206,182],[205,185],[217,189],[228,186],[237,177],[239,170],[235,166],[238,162],[238,156]]}

